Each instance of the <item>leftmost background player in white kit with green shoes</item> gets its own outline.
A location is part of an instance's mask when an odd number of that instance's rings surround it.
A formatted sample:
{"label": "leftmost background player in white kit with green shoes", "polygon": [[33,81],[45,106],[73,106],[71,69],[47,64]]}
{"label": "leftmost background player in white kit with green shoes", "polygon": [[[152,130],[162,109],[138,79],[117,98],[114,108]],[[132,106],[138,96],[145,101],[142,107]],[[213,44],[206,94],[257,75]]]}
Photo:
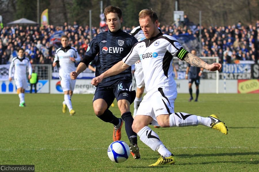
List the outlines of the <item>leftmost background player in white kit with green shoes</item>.
{"label": "leftmost background player in white kit with green shoes", "polygon": [[27,88],[27,76],[26,72],[27,69],[29,70],[29,76],[28,78],[31,79],[31,73],[32,73],[32,67],[30,60],[26,57],[24,57],[24,49],[20,48],[18,50],[18,57],[14,57],[12,59],[12,63],[9,68],[9,81],[12,81],[12,71],[14,67],[14,80],[15,85],[18,90],[18,95],[20,98],[20,107],[26,106],[24,102],[24,92]]}

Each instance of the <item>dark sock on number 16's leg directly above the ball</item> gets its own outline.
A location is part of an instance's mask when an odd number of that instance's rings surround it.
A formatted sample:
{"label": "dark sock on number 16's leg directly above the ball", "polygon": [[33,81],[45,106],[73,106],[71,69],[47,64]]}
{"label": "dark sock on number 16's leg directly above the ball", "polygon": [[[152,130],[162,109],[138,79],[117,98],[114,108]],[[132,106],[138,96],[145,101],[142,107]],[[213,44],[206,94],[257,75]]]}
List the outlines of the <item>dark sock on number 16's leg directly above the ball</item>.
{"label": "dark sock on number 16's leg directly above the ball", "polygon": [[125,130],[129,138],[129,142],[137,144],[137,134],[132,130],[133,117],[131,112],[125,112],[121,115],[123,121],[125,121]]}

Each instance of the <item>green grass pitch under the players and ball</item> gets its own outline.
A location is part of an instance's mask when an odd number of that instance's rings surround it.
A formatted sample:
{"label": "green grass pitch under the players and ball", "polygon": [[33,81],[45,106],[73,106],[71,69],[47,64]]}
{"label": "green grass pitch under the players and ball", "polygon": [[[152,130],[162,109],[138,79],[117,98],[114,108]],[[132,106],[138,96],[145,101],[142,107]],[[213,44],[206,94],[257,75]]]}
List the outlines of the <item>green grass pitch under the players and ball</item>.
{"label": "green grass pitch under the players and ball", "polygon": [[[25,94],[26,107],[19,107],[17,94],[0,94],[0,164],[35,165],[35,171],[259,171],[259,95],[178,94],[176,112],[207,117],[219,116],[228,135],[205,126],[154,128],[175,155],[175,165],[148,167],[160,157],[138,139],[141,160],[130,155],[114,163],[107,155],[113,142],[113,125],[94,114],[93,94],[74,94],[74,116],[62,113],[63,94]],[[120,113],[115,107],[115,116]],[[133,112],[133,104],[131,105]],[[129,144],[125,128],[121,140]]]}

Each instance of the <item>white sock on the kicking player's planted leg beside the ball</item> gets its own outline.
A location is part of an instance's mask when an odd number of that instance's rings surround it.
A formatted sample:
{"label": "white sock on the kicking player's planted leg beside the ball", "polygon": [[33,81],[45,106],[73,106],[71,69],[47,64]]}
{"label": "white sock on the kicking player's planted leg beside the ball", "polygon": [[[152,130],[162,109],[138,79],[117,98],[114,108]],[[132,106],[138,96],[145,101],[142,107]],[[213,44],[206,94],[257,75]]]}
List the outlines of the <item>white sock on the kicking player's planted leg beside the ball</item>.
{"label": "white sock on the kicking player's planted leg beside the ball", "polygon": [[140,137],[140,140],[154,151],[165,147],[160,141],[159,136],[148,126],[143,127],[137,134]]}

